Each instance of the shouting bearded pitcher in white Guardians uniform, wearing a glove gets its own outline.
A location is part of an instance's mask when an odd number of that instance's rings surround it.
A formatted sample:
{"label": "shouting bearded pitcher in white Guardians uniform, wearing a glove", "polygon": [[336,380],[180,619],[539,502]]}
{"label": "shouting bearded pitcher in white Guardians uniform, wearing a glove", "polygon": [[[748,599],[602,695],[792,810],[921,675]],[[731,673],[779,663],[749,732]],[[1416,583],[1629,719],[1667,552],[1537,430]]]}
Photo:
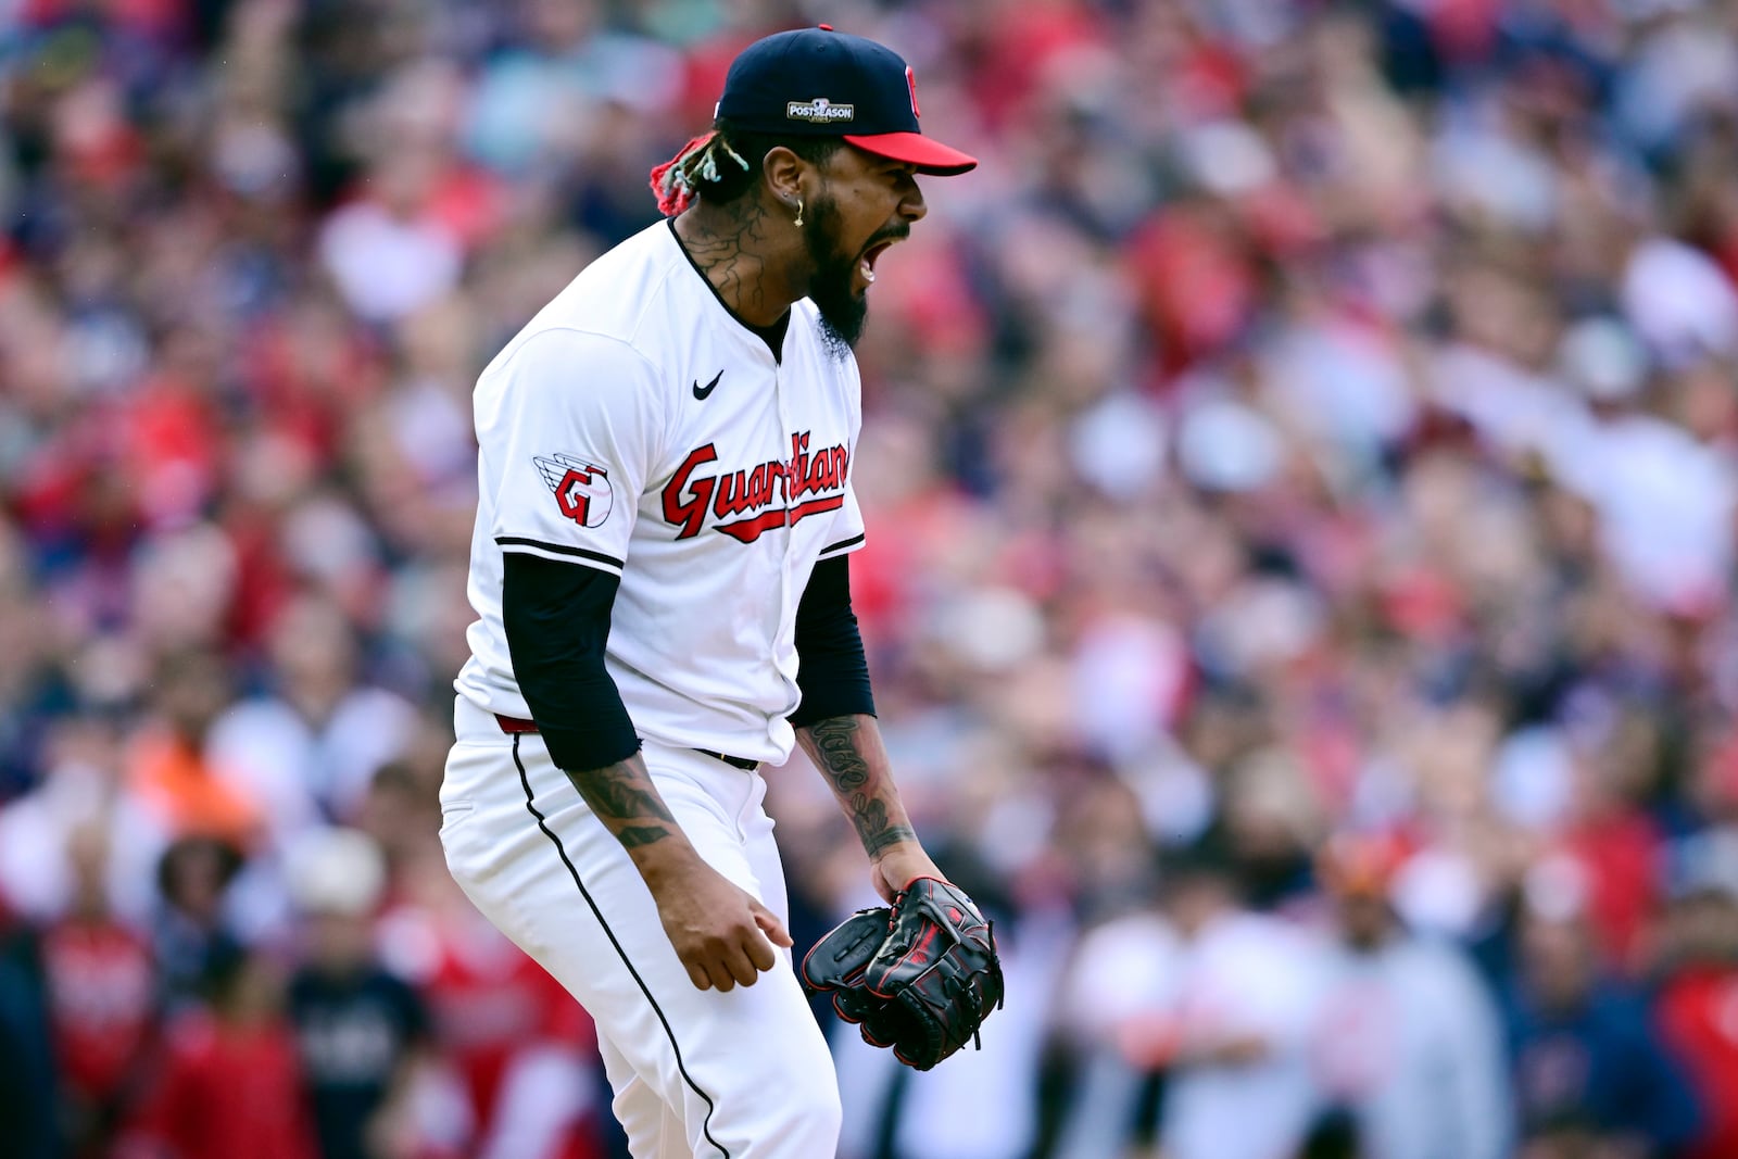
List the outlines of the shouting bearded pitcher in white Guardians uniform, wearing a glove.
{"label": "shouting bearded pitcher in white Guardians uniform, wearing a glove", "polygon": [[471,659],[441,844],[476,907],[584,1004],[636,1159],[824,1159],[839,1096],[791,963],[760,766],[801,744],[888,907],[806,963],[928,1067],[1001,997],[987,923],[923,851],[852,613],[876,261],[918,176],[883,45],[827,26],[732,64],[713,130],[653,170],[667,219],[483,370]]}

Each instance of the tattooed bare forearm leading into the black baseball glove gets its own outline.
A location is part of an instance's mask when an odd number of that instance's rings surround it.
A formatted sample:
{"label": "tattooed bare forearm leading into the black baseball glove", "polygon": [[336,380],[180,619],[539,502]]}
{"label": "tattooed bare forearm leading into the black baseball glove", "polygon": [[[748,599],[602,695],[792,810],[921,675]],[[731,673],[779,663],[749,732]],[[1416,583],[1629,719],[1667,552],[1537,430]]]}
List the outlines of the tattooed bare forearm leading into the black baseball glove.
{"label": "tattooed bare forearm leading into the black baseball glove", "polygon": [[899,799],[881,726],[872,716],[831,716],[805,725],[796,730],[796,742],[857,829],[871,881],[883,898],[892,902],[914,878],[942,878]]}

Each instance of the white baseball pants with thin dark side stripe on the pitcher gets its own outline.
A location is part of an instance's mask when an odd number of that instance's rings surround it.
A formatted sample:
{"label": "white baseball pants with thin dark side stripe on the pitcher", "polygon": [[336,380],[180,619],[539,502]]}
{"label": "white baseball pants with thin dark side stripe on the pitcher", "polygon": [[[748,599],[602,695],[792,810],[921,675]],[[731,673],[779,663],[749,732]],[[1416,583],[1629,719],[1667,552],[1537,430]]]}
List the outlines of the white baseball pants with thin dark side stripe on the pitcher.
{"label": "white baseball pants with thin dark side stripe on the pitcher", "polygon": [[[542,738],[502,733],[464,697],[454,719],[440,792],[447,867],[596,1022],[634,1159],[831,1159],[838,1079],[791,952],[779,949],[751,987],[697,990],[640,871]],[[760,773],[692,749],[643,754],[700,857],[789,923]]]}

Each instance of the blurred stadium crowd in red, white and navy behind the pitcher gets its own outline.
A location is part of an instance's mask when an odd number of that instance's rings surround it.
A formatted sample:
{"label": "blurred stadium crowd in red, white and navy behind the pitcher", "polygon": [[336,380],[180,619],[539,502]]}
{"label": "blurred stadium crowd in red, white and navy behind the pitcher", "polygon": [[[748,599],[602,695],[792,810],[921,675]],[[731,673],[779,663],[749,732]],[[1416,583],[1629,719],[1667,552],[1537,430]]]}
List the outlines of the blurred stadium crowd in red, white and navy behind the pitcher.
{"label": "blurred stadium crowd in red, white and navy behind the pitcher", "polygon": [[[476,372],[758,35],[977,153],[853,558],[1008,1004],[848,1159],[1738,1157],[1738,5],[0,0],[0,1154],[622,1156],[445,874]],[[869,900],[796,758],[799,949]]]}

